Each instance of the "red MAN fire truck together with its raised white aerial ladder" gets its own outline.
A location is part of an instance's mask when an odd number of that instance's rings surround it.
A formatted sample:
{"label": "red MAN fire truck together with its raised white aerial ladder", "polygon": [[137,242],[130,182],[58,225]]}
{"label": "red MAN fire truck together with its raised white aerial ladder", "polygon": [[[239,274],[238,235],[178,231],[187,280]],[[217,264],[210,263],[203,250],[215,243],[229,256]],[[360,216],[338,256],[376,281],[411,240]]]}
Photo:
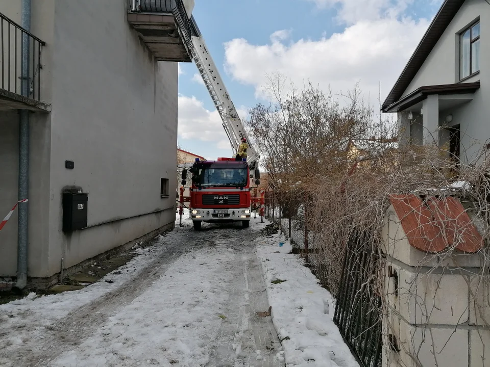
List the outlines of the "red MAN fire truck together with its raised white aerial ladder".
{"label": "red MAN fire truck together with its raised white aerial ladder", "polygon": [[[260,172],[258,160],[260,155],[251,144],[247,132],[241,123],[230,93],[226,89],[218,67],[209,54],[209,48],[193,16],[190,17],[190,51],[192,60],[197,66],[204,85],[211,96],[214,107],[223,122],[223,128],[230,140],[234,153],[240,145],[241,138],[249,143],[247,159],[236,161],[234,158],[218,158],[217,161],[199,161],[197,159],[189,168],[190,194],[184,196],[180,189],[180,220],[184,203],[189,203],[189,216],[194,228],[199,230],[202,222],[237,222],[248,227],[252,210],[261,205],[263,216],[263,195],[251,197],[251,189],[259,185]],[[187,170],[182,171],[182,185],[186,185]],[[254,185],[255,183],[255,185]],[[254,206],[252,206],[252,204]]]}

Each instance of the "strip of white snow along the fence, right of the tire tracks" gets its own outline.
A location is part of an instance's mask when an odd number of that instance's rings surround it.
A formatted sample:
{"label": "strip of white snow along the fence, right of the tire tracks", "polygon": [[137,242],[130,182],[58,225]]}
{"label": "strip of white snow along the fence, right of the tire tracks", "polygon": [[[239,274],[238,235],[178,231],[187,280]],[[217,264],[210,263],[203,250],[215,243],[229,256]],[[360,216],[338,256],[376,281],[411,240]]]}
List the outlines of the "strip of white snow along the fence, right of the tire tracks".
{"label": "strip of white snow along the fence, right of the tire tracks", "polygon": [[[280,247],[279,242],[284,245]],[[359,367],[333,323],[330,292],[318,284],[297,255],[289,254],[291,249],[282,234],[257,239],[257,255],[286,365]],[[272,283],[275,280],[277,284]]]}

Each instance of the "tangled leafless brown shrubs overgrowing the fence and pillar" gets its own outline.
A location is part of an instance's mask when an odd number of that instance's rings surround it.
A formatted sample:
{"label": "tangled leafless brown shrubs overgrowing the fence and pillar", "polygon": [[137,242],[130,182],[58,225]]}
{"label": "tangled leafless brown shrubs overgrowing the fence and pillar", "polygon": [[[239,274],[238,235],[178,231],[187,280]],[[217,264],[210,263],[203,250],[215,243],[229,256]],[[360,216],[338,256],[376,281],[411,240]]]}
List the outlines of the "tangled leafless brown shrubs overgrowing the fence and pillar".
{"label": "tangled leafless brown shrubs overgrowing the fence and pillar", "polygon": [[[273,102],[253,108],[248,127],[283,214],[291,218],[299,208],[306,213],[305,226],[314,237],[308,260],[332,294],[339,288],[346,246],[362,233],[369,244],[367,250],[376,256],[370,277],[363,282],[374,284],[386,311],[381,229],[389,194],[416,192],[427,200],[457,196],[485,242],[489,238],[490,160],[486,149],[473,163],[465,164],[451,159],[447,146],[399,145],[394,123],[376,116],[369,103],[363,103],[357,86],[346,95],[333,95],[308,84],[302,90],[292,87],[283,95],[285,78],[276,75],[269,81]],[[466,182],[465,186],[450,187],[456,180]],[[454,249],[461,241],[453,239],[444,253],[428,253],[428,264],[431,258],[437,258],[438,266],[454,260]],[[479,289],[487,289],[487,249],[478,254],[482,270],[475,275]],[[415,292],[418,281],[406,285],[406,292]],[[427,307],[426,300],[419,301],[421,307]],[[475,305],[483,314],[490,301],[480,299]],[[378,306],[373,302],[373,307]],[[431,307],[427,315],[435,306]],[[489,325],[484,326],[488,329]],[[429,325],[426,337],[430,334]],[[435,352],[434,359],[437,365]]]}

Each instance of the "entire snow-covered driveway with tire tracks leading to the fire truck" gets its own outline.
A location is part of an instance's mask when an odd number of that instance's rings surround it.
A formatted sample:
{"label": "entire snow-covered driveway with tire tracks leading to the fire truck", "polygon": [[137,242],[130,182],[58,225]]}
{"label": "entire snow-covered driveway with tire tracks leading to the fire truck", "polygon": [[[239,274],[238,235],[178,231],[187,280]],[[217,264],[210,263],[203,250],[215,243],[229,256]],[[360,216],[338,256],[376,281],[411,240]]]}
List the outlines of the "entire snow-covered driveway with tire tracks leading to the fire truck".
{"label": "entire snow-covered driveway with tire tracks leading to the fire truck", "polygon": [[0,305],[0,365],[357,366],[282,236],[183,223],[83,290]]}

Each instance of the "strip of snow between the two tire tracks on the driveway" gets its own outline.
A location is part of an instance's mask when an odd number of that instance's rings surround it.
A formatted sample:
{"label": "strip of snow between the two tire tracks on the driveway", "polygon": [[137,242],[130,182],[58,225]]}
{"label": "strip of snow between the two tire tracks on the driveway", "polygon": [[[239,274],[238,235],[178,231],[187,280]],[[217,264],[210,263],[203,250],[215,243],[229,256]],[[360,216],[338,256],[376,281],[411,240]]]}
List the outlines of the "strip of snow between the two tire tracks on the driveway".
{"label": "strip of snow between the two tire tracks on the driveway", "polygon": [[225,240],[236,242],[233,231],[213,234],[215,241],[205,241],[203,248],[175,261],[145,293],[52,364],[194,367],[207,363],[210,344],[223,323],[218,316],[225,313],[240,263],[239,251]]}

